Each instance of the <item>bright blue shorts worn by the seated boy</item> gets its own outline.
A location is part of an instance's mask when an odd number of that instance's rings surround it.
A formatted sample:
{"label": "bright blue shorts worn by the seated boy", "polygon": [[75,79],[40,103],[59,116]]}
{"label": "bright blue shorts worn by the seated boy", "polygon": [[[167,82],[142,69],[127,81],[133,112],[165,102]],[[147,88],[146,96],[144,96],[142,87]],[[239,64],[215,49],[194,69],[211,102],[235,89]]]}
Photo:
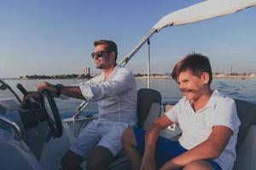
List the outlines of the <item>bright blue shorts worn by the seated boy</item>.
{"label": "bright blue shorts worn by the seated boy", "polygon": [[[144,131],[141,128],[133,127],[133,132],[136,135],[137,139],[137,150],[143,155],[144,148],[145,148],[145,134],[146,131]],[[187,150],[183,148],[179,144],[178,141],[172,141],[169,139],[166,139],[164,137],[159,137],[156,142],[155,147],[155,163],[158,168],[162,167],[166,161],[171,160],[172,158],[179,156],[186,152]],[[219,167],[218,163],[212,160],[205,160],[207,163],[211,164],[214,170],[222,170],[221,167]]]}

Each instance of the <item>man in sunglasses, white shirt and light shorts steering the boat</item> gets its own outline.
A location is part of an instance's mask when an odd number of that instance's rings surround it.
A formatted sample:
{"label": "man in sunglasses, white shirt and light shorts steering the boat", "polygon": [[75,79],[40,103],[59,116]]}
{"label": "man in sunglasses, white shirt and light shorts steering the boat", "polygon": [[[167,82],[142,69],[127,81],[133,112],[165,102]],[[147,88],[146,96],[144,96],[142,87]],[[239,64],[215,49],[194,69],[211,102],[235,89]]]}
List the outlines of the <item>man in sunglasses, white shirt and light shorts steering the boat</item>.
{"label": "man in sunglasses, white shirt and light shorts steering the boat", "polygon": [[128,125],[137,123],[137,85],[131,71],[116,64],[118,55],[114,42],[94,42],[91,54],[102,75],[82,83],[79,87],[54,86],[48,82],[38,85],[38,91],[48,88],[54,94],[97,101],[99,119],[84,127],[79,138],[61,160],[64,170],[79,169],[87,161],[87,170],[106,169],[122,149],[121,136]]}

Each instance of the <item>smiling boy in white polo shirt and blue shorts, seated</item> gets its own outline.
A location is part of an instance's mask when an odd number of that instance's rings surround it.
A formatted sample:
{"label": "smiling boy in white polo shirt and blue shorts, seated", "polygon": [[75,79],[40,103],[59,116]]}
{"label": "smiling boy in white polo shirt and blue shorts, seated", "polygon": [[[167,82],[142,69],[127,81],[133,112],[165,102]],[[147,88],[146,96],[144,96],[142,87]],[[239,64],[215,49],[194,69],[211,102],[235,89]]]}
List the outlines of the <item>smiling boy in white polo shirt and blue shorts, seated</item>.
{"label": "smiling boy in white polo shirt and blue shorts, seated", "polygon": [[[212,91],[209,59],[189,54],[175,65],[172,78],[184,97],[157,119],[147,133],[128,127],[122,137],[134,169],[232,169],[240,120],[233,99]],[[178,141],[159,137],[164,128],[178,123]]]}

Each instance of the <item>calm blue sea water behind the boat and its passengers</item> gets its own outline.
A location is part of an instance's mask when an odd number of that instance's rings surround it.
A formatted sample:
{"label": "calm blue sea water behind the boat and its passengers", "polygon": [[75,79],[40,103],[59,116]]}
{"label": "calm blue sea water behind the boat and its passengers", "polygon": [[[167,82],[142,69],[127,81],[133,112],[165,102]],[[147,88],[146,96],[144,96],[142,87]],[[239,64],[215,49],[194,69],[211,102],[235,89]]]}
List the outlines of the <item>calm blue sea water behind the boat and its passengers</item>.
{"label": "calm blue sea water behind the boat and its passengers", "polygon": [[[79,84],[79,82],[85,82],[84,79],[49,79],[49,80],[24,80],[24,79],[6,79],[5,82],[9,83],[15,92],[22,98],[20,91],[15,88],[17,83],[20,83],[26,88],[27,91],[35,91],[39,82],[50,82],[53,84],[62,83],[66,86]],[[137,79],[137,89],[147,88],[147,79]],[[162,103],[177,103],[178,99],[182,98],[177,83],[172,79],[151,79],[150,88],[154,88],[162,95]],[[252,102],[256,105],[256,79],[247,78],[241,80],[240,78],[213,78],[212,89],[218,89],[222,94],[229,95],[231,98],[242,99]],[[0,96],[1,99],[4,96]],[[61,118],[67,118],[73,116],[76,108],[83,102],[80,99],[64,98],[55,99],[59,108]],[[83,111],[83,115],[96,114],[96,103],[91,103]]]}

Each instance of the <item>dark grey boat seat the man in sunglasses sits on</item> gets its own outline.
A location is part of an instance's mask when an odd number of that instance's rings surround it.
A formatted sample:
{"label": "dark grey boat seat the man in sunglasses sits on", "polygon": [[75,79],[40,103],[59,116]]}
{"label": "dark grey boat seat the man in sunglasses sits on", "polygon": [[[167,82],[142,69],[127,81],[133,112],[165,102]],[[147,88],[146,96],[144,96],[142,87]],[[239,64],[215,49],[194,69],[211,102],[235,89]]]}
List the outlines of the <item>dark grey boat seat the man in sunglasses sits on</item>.
{"label": "dark grey boat seat the man in sunglasses sits on", "polygon": [[[147,130],[149,125],[160,116],[161,94],[151,88],[141,88],[137,91],[137,127]],[[131,169],[130,162],[123,150],[110,164],[108,169]]]}

